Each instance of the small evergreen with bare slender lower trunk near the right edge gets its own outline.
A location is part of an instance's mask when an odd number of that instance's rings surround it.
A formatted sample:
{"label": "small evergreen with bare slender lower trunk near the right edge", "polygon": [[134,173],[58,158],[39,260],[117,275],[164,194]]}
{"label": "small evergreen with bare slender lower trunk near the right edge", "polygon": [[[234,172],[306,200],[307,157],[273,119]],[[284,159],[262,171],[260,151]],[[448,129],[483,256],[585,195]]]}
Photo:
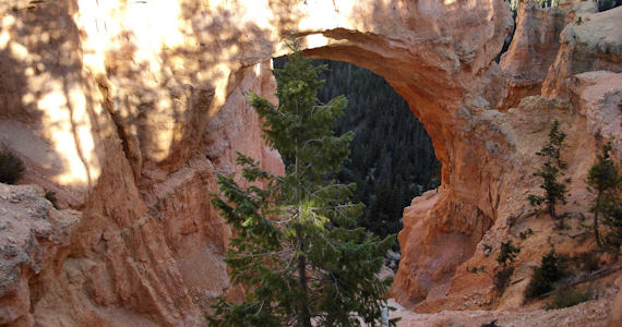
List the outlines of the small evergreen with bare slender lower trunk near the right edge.
{"label": "small evergreen with bare slender lower trunk near the right edge", "polygon": [[599,247],[602,243],[598,233],[598,214],[608,203],[620,202],[619,192],[622,187],[622,177],[609,156],[610,150],[611,142],[602,145],[602,155],[598,155],[598,161],[589,168],[587,175],[588,190],[596,195],[590,210],[594,213],[594,238]]}

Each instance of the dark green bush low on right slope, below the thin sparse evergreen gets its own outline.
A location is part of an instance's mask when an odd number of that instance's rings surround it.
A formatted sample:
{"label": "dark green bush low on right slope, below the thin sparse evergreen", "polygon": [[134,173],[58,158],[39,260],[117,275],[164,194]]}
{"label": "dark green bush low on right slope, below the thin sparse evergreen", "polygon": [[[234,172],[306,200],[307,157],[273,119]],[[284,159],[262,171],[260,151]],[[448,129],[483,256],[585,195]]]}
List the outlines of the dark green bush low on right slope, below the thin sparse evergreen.
{"label": "dark green bush low on right slope, below the thin sparse evergreen", "polygon": [[534,270],[534,277],[525,290],[525,298],[533,299],[552,291],[554,282],[565,276],[562,261],[563,258],[555,253],[554,249],[542,256],[540,267]]}

